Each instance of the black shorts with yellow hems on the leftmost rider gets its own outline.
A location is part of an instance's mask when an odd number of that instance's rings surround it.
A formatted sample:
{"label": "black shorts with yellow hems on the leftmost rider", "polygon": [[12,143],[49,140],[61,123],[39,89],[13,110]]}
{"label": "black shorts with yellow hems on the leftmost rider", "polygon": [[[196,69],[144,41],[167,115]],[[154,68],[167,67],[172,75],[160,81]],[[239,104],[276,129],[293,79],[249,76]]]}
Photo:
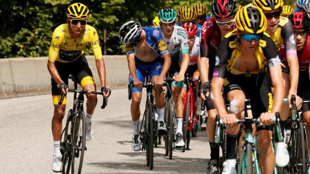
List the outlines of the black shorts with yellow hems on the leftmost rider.
{"label": "black shorts with yellow hems on the leftmost rider", "polygon": [[[69,63],[55,61],[55,67],[59,73],[60,78],[66,84],[68,84],[68,77],[70,74],[74,76],[74,78],[78,81],[78,84],[82,88],[86,84],[95,84],[93,80],[93,73],[88,66],[84,54],[77,60]],[[61,90],[58,89],[58,84],[53,78],[51,78],[51,86],[52,86],[53,103],[58,104],[62,92]],[[66,100],[64,99],[62,103],[66,104]]]}

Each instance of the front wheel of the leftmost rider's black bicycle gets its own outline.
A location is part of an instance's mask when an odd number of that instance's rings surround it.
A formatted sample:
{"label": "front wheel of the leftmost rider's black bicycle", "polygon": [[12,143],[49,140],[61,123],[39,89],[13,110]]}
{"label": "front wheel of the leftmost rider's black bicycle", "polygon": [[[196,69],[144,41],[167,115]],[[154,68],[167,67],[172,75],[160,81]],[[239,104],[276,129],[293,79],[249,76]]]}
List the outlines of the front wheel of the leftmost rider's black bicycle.
{"label": "front wheel of the leftmost rider's black bicycle", "polygon": [[[80,123],[80,121],[82,122]],[[83,111],[79,111],[77,113],[73,130],[74,150],[72,150],[71,174],[80,174],[83,167],[84,151],[86,145],[86,122],[85,113]]]}

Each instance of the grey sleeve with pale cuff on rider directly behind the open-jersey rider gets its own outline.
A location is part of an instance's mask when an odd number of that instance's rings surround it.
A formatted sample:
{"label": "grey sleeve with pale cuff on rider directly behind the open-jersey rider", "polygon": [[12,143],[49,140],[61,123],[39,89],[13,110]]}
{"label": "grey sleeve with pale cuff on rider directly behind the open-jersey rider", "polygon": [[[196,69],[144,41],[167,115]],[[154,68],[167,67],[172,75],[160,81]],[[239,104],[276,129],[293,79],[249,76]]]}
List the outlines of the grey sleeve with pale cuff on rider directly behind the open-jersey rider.
{"label": "grey sleeve with pale cuff on rider directly behind the open-jersey rider", "polygon": [[297,54],[293,26],[290,20],[288,20],[287,23],[281,28],[281,37],[284,40],[286,55],[289,56],[292,54]]}

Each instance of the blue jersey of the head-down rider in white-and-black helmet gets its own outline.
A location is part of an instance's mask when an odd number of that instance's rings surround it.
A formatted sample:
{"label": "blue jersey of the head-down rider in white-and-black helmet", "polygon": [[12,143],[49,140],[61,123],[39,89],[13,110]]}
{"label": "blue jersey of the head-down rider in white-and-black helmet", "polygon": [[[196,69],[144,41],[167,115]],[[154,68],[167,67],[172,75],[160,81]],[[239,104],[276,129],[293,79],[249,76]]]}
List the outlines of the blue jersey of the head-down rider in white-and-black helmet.
{"label": "blue jersey of the head-down rider in white-and-black helmet", "polygon": [[[154,50],[154,52],[158,56],[163,57],[163,55],[169,54],[167,45],[164,42],[164,39],[157,28],[142,27],[142,29],[145,31],[146,34],[146,43],[150,46],[150,48]],[[137,57],[136,44],[134,43],[129,43],[126,45],[126,55],[130,54],[135,54],[135,56]]]}

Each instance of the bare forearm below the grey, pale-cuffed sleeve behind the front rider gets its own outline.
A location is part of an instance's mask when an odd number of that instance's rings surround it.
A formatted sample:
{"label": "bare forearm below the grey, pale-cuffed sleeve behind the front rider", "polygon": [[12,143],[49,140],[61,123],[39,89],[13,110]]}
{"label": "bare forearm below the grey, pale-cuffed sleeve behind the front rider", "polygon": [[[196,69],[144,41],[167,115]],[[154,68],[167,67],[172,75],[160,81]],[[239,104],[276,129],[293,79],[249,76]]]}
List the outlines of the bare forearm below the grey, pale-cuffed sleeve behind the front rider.
{"label": "bare forearm below the grey, pale-cuffed sleeve behind the front rider", "polygon": [[290,55],[288,56],[287,60],[290,67],[290,81],[291,81],[290,91],[296,94],[299,78],[299,65],[297,55]]}

